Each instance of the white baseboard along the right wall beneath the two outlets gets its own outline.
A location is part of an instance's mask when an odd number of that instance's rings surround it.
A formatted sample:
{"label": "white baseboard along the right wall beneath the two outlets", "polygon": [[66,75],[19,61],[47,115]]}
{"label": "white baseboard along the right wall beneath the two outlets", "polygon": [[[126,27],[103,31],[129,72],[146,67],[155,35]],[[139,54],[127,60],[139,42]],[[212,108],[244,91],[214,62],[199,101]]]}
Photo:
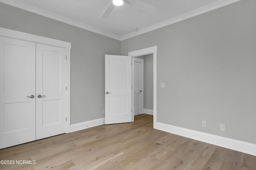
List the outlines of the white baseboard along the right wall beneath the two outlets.
{"label": "white baseboard along the right wall beneath the two outlets", "polygon": [[256,156],[256,144],[156,122],[156,129]]}

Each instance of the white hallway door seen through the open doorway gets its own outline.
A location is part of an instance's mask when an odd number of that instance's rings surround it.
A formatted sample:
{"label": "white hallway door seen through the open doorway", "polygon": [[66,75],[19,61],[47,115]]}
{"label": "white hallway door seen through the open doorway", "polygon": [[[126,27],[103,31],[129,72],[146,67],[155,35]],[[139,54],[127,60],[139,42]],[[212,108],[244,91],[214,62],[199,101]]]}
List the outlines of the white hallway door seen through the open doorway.
{"label": "white hallway door seen through the open doorway", "polygon": [[134,57],[133,64],[133,106],[134,115],[143,113],[143,64],[144,59]]}

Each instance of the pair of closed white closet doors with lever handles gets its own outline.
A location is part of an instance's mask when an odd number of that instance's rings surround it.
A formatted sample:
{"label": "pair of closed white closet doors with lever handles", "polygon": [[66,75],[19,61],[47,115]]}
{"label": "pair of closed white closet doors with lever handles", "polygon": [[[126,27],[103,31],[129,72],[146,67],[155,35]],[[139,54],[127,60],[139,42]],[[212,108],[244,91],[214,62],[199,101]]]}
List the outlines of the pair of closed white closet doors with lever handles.
{"label": "pair of closed white closet doors with lever handles", "polygon": [[66,49],[0,36],[0,149],[66,132]]}

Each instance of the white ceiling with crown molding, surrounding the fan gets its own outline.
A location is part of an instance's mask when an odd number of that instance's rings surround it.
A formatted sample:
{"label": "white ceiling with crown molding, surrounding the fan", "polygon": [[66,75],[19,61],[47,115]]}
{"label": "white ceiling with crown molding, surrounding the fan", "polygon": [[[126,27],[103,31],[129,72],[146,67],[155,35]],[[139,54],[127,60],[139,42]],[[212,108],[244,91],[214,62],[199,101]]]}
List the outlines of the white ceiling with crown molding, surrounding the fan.
{"label": "white ceiling with crown molding, surrounding the fan", "polygon": [[[117,40],[226,6],[239,0],[140,0],[156,7],[152,13],[129,4],[116,6],[107,19],[100,16],[112,0],[0,0],[48,18]],[[132,30],[137,27],[138,31]]]}

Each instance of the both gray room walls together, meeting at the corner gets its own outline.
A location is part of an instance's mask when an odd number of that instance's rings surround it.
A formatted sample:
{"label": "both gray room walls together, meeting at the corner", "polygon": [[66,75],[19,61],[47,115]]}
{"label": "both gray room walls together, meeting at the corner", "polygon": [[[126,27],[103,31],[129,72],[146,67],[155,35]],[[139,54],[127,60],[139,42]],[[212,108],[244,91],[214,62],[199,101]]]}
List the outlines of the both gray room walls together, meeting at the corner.
{"label": "both gray room walls together, meeting at the corner", "polygon": [[122,42],[2,3],[0,27],[72,43],[72,124],[104,117],[104,54],[157,45],[157,121],[256,144],[255,6],[242,0]]}

